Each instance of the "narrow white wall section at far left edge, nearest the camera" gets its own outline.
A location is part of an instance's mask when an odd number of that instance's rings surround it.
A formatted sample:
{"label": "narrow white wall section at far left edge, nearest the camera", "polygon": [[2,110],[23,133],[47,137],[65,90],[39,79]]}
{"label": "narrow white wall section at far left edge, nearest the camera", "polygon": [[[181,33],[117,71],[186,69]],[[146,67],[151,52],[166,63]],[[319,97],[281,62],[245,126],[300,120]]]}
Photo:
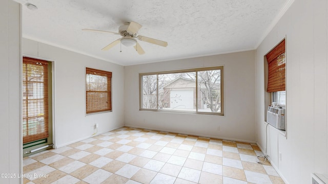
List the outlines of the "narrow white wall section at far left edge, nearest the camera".
{"label": "narrow white wall section at far left edge, nearest the camera", "polygon": [[[23,173],[20,138],[20,5],[4,0],[0,6],[0,173]],[[2,178],[0,183],[19,183]]]}

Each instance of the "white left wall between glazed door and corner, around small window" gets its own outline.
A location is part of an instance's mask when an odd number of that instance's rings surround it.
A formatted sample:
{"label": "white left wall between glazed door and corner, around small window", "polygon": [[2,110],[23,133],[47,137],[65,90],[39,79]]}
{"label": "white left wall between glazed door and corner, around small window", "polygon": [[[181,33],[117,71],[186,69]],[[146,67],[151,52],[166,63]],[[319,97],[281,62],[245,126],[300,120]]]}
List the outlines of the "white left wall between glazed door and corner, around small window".
{"label": "white left wall between glazed door and corner, around small window", "polygon": [[[53,60],[55,146],[62,147],[124,126],[124,67],[86,55],[23,39],[23,54]],[[86,116],[86,67],[112,72],[112,112]]]}

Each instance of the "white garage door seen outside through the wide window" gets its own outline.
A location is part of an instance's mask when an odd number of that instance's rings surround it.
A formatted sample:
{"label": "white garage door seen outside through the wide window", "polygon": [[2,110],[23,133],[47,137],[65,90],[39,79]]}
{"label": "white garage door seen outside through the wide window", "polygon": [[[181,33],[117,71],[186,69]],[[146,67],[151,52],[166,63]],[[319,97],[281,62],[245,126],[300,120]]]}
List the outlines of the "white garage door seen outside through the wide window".
{"label": "white garage door seen outside through the wide window", "polygon": [[194,90],[171,90],[171,108],[194,108]]}

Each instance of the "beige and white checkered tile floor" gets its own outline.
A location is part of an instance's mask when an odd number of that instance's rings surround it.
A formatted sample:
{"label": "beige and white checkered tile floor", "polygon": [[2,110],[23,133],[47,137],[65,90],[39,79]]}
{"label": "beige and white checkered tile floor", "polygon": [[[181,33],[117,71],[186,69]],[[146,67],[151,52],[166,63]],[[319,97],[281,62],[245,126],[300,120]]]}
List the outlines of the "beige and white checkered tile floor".
{"label": "beige and white checkered tile floor", "polygon": [[257,155],[255,144],[122,127],[25,157],[24,183],[283,183]]}

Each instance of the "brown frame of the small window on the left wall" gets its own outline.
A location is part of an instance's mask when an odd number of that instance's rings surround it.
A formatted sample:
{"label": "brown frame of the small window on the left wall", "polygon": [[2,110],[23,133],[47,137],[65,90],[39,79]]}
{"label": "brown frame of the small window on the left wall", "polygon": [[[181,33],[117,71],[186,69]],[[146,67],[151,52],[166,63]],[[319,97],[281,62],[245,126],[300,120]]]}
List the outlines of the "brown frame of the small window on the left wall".
{"label": "brown frame of the small window on the left wall", "polygon": [[[89,72],[89,73],[88,73]],[[104,109],[101,109],[101,110],[91,110],[91,111],[88,111],[88,93],[90,93],[91,91],[89,90],[88,91],[88,81],[87,81],[87,75],[88,74],[91,74],[91,72],[93,72],[92,75],[96,75],[96,76],[106,76],[107,77],[107,90],[106,90],[106,93],[107,93],[107,96],[109,101],[110,101],[110,105],[108,108],[104,108]],[[112,109],[113,109],[113,105],[112,105],[112,72],[109,72],[109,71],[103,71],[103,70],[98,70],[98,69],[95,69],[95,68],[91,68],[91,67],[86,67],[86,77],[85,77],[85,81],[86,81],[86,115],[91,115],[91,114],[96,114],[96,113],[104,113],[104,112],[112,112]],[[104,92],[104,91],[103,91]]]}

